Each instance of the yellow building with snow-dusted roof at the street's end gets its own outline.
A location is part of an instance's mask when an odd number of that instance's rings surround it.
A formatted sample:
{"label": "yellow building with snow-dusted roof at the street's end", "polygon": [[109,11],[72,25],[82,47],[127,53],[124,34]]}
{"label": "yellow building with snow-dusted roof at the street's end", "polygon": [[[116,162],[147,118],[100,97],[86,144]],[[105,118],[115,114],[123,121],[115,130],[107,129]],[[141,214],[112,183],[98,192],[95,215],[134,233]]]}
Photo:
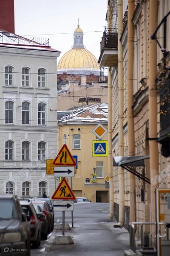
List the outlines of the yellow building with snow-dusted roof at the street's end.
{"label": "yellow building with snow-dusted roof at the street's end", "polygon": [[[85,196],[92,202],[109,201],[108,157],[93,157],[92,155],[92,142],[101,141],[97,140],[96,135],[92,132],[93,129],[97,124],[101,124],[107,130],[107,111],[103,112],[102,108],[106,111],[107,104],[83,106],[76,108],[72,113],[69,112],[70,118],[65,113],[65,116],[58,120],[58,148],[60,149],[63,144],[66,144],[71,155],[77,156],[78,168],[73,177],[74,195],[75,197]],[[107,139],[106,133],[102,141],[105,143]],[[96,174],[96,182],[93,182],[94,174]],[[68,183],[71,184],[70,182],[69,178]]]}

